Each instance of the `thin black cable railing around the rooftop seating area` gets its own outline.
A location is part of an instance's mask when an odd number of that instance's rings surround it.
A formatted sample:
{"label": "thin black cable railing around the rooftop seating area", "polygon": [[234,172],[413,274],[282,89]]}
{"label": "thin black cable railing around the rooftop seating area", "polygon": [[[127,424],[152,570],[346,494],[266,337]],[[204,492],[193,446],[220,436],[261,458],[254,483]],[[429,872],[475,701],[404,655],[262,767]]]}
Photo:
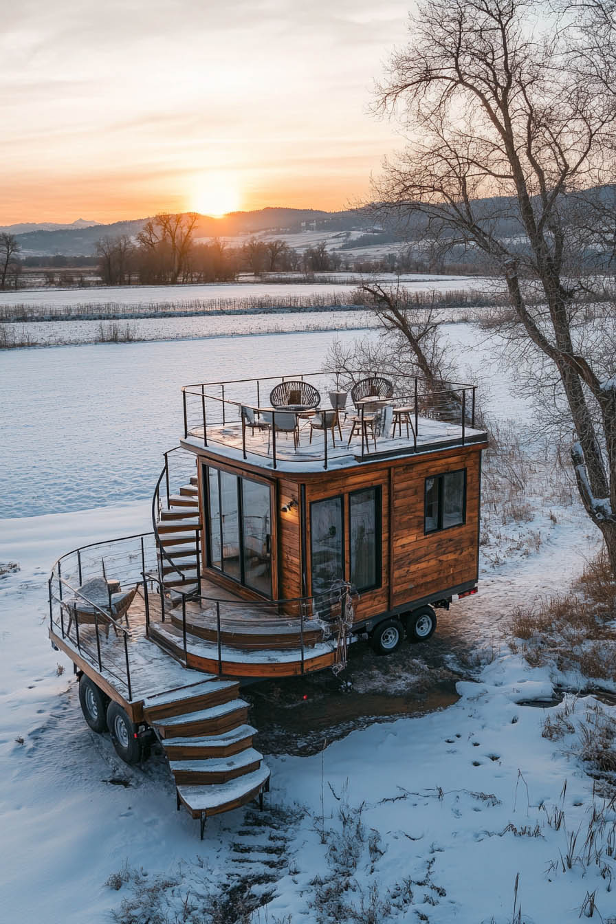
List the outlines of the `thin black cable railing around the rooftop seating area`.
{"label": "thin black cable railing around the rooftop seating area", "polygon": [[[280,450],[280,433],[291,432],[288,426],[289,418],[295,419],[295,429],[300,432],[300,424],[309,420],[310,416],[327,412],[331,409],[326,407],[322,397],[319,407],[296,407],[296,406],[273,406],[264,400],[266,395],[269,396],[269,390],[272,389],[273,383],[284,383],[291,381],[308,382],[314,384],[320,395],[330,397],[335,395],[348,395],[353,383],[357,383],[361,378],[378,377],[378,372],[374,370],[356,370],[344,371],[338,373],[327,372],[304,372],[295,373],[294,375],[269,376],[260,379],[235,379],[226,382],[217,383],[199,383],[185,385],[182,389],[183,414],[184,414],[184,438],[193,438],[199,440],[204,446],[209,444],[221,444],[241,450],[242,457],[248,458],[248,454],[265,457],[271,460],[272,468],[277,468],[281,461],[301,462],[301,456],[291,456],[288,452]],[[341,385],[347,392],[341,392]],[[428,380],[416,375],[397,373],[393,378],[393,395],[386,399],[379,398],[380,403],[392,407],[393,412],[398,407],[407,408],[408,415],[405,423],[412,426],[407,432],[407,440],[403,443],[394,443],[393,434],[379,432],[378,436],[373,433],[374,442],[380,440],[380,449],[376,452],[383,453],[400,453],[400,452],[417,452],[417,446],[426,444],[430,438],[435,438],[435,431],[432,422],[453,424],[456,432],[447,434],[450,444],[465,445],[469,430],[475,429],[476,411],[477,411],[477,386],[466,383],[443,382],[429,383]],[[375,395],[375,398],[378,398]],[[366,398],[368,400],[368,398]],[[344,397],[344,401],[347,398]],[[328,428],[324,425],[319,428],[310,426],[310,448],[308,455],[304,455],[306,461],[319,460],[323,468],[328,468],[332,459],[348,457],[353,455],[361,460],[366,460],[374,454],[368,444],[368,432],[366,424],[372,414],[363,404],[354,409],[352,400],[348,395],[348,404],[346,407],[338,407],[337,421],[340,420],[340,413],[344,410],[345,416],[351,411],[359,418],[358,432],[361,440],[361,446],[357,444],[348,445],[345,437],[341,436],[341,441],[337,447],[330,447],[328,444]],[[261,432],[261,439],[254,439],[254,429],[252,438],[247,436],[251,423],[246,423],[247,415],[256,421],[256,428]],[[278,421],[278,423],[277,423]],[[391,421],[389,423],[391,425]],[[410,430],[412,429],[412,436]],[[267,431],[267,448],[264,447],[265,440],[262,438],[262,431]],[[322,433],[322,442],[312,444],[314,432]],[[444,433],[444,431],[443,431]],[[278,440],[277,440],[278,434]],[[402,438],[402,430],[400,431]],[[444,438],[441,434],[441,439]],[[439,435],[436,434],[438,441]],[[351,441],[350,441],[351,442]],[[306,447],[304,447],[305,449]],[[297,446],[294,444],[295,453]],[[268,463],[269,464],[269,463]]]}

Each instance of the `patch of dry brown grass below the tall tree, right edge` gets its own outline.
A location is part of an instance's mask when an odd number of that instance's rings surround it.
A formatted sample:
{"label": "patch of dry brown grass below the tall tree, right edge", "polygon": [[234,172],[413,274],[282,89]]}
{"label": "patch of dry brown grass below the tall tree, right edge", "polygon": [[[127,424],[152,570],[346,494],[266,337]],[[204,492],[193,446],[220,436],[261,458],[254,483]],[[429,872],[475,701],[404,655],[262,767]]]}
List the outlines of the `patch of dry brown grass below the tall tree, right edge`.
{"label": "patch of dry brown grass below the tall tree, right edge", "polygon": [[509,644],[532,666],[553,665],[590,680],[616,677],[616,581],[605,550],[590,561],[569,593],[513,612]]}

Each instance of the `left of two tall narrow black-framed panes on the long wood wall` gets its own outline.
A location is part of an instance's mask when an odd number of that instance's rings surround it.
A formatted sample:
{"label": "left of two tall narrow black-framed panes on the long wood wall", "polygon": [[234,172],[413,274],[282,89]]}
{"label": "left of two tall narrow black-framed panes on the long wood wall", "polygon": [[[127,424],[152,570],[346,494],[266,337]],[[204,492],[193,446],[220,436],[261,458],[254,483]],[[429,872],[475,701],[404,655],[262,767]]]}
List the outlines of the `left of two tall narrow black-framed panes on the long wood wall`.
{"label": "left of two tall narrow black-framed panes on the long wood wall", "polygon": [[328,497],[310,505],[312,593],[325,593],[344,578],[344,521],[342,497]]}

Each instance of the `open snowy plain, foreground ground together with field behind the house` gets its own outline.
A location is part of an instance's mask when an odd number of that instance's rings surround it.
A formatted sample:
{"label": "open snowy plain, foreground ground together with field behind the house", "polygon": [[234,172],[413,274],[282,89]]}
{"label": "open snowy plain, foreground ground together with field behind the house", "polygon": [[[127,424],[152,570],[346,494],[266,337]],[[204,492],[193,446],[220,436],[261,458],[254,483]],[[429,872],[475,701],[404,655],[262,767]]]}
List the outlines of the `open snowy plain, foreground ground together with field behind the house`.
{"label": "open snowy plain, foreground ground together with field behind the house", "polygon": [[[498,360],[490,365],[494,345],[469,325],[450,325],[448,335],[491,384],[493,416],[522,425],[529,411]],[[443,614],[440,634],[470,639],[479,652],[456,703],[329,744],[325,734],[310,757],[267,754],[266,811],[210,821],[202,844],[195,822],[175,812],[163,760],[128,768],[81,717],[70,663],[46,638],[55,557],[150,529],[161,453],[181,426],[181,384],[293,371],[298,358],[316,369],[331,339],[68,346],[0,358],[0,561],[20,568],[0,579],[0,919],[573,924],[593,896],[596,918],[616,920],[616,808],[566,739],[541,736],[546,717],[562,711],[547,703],[565,678],[530,668],[502,638],[516,605],[566,588],[597,550],[575,504],[537,508],[525,524],[541,536],[534,551],[499,557],[484,547],[479,594]],[[501,548],[511,535],[502,524]],[[409,674],[423,648],[405,649]],[[454,646],[447,661],[468,677]],[[529,700],[543,707],[522,704]],[[600,860],[592,845],[603,845]]]}

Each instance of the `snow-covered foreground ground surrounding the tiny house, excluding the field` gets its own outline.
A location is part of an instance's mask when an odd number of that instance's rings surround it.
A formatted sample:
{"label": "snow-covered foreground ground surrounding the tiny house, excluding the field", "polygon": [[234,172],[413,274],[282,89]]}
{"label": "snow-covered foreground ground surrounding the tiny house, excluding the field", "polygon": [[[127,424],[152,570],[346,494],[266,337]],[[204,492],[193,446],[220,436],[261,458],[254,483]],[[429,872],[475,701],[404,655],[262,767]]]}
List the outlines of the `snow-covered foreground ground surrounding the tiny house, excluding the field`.
{"label": "snow-covered foreground ground surrounding the tiny house, excluding the field", "polygon": [[[254,881],[257,894],[272,894],[254,924],[505,924],[514,919],[518,875],[516,907],[528,924],[573,924],[593,893],[603,920],[614,915],[613,856],[604,850],[599,863],[584,859],[593,806],[603,800],[562,745],[541,736],[559,707],[518,704],[550,698],[547,671],[507,654],[498,637],[499,619],[520,595],[545,588],[546,576],[556,582],[559,569],[571,573],[590,547],[576,547],[579,513],[522,565],[500,565],[479,598],[455,604],[452,625],[477,626],[479,635],[491,611],[495,646],[479,682],[457,685],[455,705],[353,732],[314,757],[269,755],[270,808],[211,820],[203,844],[195,823],[175,812],[160,758],[127,768],[108,736],[91,733],[70,664],[46,640],[54,557],[148,529],[148,513],[134,504],[0,523],[0,561],[21,565],[0,580],[6,921],[103,924],[123,900],[141,909],[127,919],[144,924],[149,914],[211,921],[205,909],[218,903],[220,910],[232,886],[244,881],[242,895]],[[555,808],[564,812],[560,830],[550,825]],[[605,817],[609,831],[613,807]],[[561,855],[578,830],[573,869],[565,862],[563,870]],[[119,890],[105,884],[110,877]]]}

